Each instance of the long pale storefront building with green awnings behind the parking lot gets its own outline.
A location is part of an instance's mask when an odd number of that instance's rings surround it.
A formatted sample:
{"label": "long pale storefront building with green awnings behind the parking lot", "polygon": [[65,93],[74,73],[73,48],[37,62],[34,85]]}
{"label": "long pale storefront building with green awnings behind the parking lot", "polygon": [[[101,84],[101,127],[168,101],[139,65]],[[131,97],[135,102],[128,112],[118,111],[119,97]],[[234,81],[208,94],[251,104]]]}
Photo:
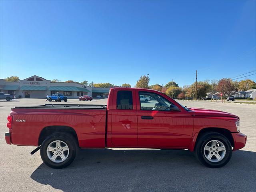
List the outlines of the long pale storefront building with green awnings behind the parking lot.
{"label": "long pale storefront building with green awnings behind the parking lot", "polygon": [[68,98],[79,98],[82,95],[108,97],[109,90],[110,88],[92,88],[80,83],[54,83],[36,75],[19,82],[0,79],[0,92],[15,95],[16,98],[46,98],[54,93]]}

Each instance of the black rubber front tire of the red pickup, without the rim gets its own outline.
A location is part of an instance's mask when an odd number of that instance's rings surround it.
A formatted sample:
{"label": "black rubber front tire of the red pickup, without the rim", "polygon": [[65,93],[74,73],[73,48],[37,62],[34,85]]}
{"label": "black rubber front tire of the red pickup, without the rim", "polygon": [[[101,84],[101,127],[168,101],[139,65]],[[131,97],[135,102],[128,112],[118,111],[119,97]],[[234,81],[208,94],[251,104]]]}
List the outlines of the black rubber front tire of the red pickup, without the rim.
{"label": "black rubber front tire of the red pickup, without the rim", "polygon": [[[220,160],[219,162],[211,162],[204,155],[204,146],[206,146],[206,144],[211,140],[218,140],[218,141],[222,142],[226,148],[226,154],[223,157],[223,159]],[[224,135],[217,133],[217,132],[206,132],[205,134],[200,136],[200,138],[198,138],[194,152],[196,154],[197,159],[203,165],[210,167],[210,168],[219,168],[219,167],[226,165],[229,162],[229,160],[232,156],[232,146],[231,146],[228,138],[226,138]]]}

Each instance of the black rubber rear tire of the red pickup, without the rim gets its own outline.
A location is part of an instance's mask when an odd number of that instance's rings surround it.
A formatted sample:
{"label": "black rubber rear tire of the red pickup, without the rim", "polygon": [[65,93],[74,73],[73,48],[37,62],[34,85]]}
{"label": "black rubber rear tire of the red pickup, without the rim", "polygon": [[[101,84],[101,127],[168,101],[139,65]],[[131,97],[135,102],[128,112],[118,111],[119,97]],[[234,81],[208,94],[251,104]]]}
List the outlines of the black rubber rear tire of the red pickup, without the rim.
{"label": "black rubber rear tire of the red pickup, without the rim", "polygon": [[[51,142],[54,142],[55,140],[60,140],[60,141],[65,142],[69,149],[68,157],[66,158],[66,160],[64,160],[63,162],[60,162],[60,163],[53,162],[47,156],[48,145]],[[61,168],[65,168],[65,167],[69,166],[74,161],[77,153],[78,153],[77,141],[74,138],[74,136],[72,136],[69,133],[62,133],[62,132],[53,133],[53,134],[49,135],[42,142],[42,145],[40,147],[40,155],[41,155],[43,162],[47,166],[54,168],[54,169],[61,169]]]}

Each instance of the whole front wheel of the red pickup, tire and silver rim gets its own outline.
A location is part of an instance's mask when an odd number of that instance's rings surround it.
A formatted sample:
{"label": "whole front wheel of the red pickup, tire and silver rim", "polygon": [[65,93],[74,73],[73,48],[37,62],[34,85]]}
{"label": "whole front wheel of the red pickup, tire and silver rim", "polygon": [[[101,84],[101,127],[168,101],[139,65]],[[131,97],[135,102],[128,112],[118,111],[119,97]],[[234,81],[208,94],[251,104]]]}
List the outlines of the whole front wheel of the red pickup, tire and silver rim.
{"label": "whole front wheel of the red pickup, tire and silver rim", "polygon": [[219,168],[226,165],[232,156],[229,140],[217,132],[207,132],[196,142],[198,160],[207,167]]}

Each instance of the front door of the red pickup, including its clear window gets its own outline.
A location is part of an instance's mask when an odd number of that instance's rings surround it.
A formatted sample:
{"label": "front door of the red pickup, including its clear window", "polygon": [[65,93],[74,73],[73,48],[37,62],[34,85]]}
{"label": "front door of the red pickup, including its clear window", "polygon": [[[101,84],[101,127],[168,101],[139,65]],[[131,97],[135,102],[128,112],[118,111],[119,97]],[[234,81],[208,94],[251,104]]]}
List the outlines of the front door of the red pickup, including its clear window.
{"label": "front door of the red pickup, including its clear window", "polygon": [[[193,113],[180,111],[170,100],[153,92],[137,92],[138,146],[151,148],[186,148],[193,132]],[[140,107],[140,108],[139,108]]]}

